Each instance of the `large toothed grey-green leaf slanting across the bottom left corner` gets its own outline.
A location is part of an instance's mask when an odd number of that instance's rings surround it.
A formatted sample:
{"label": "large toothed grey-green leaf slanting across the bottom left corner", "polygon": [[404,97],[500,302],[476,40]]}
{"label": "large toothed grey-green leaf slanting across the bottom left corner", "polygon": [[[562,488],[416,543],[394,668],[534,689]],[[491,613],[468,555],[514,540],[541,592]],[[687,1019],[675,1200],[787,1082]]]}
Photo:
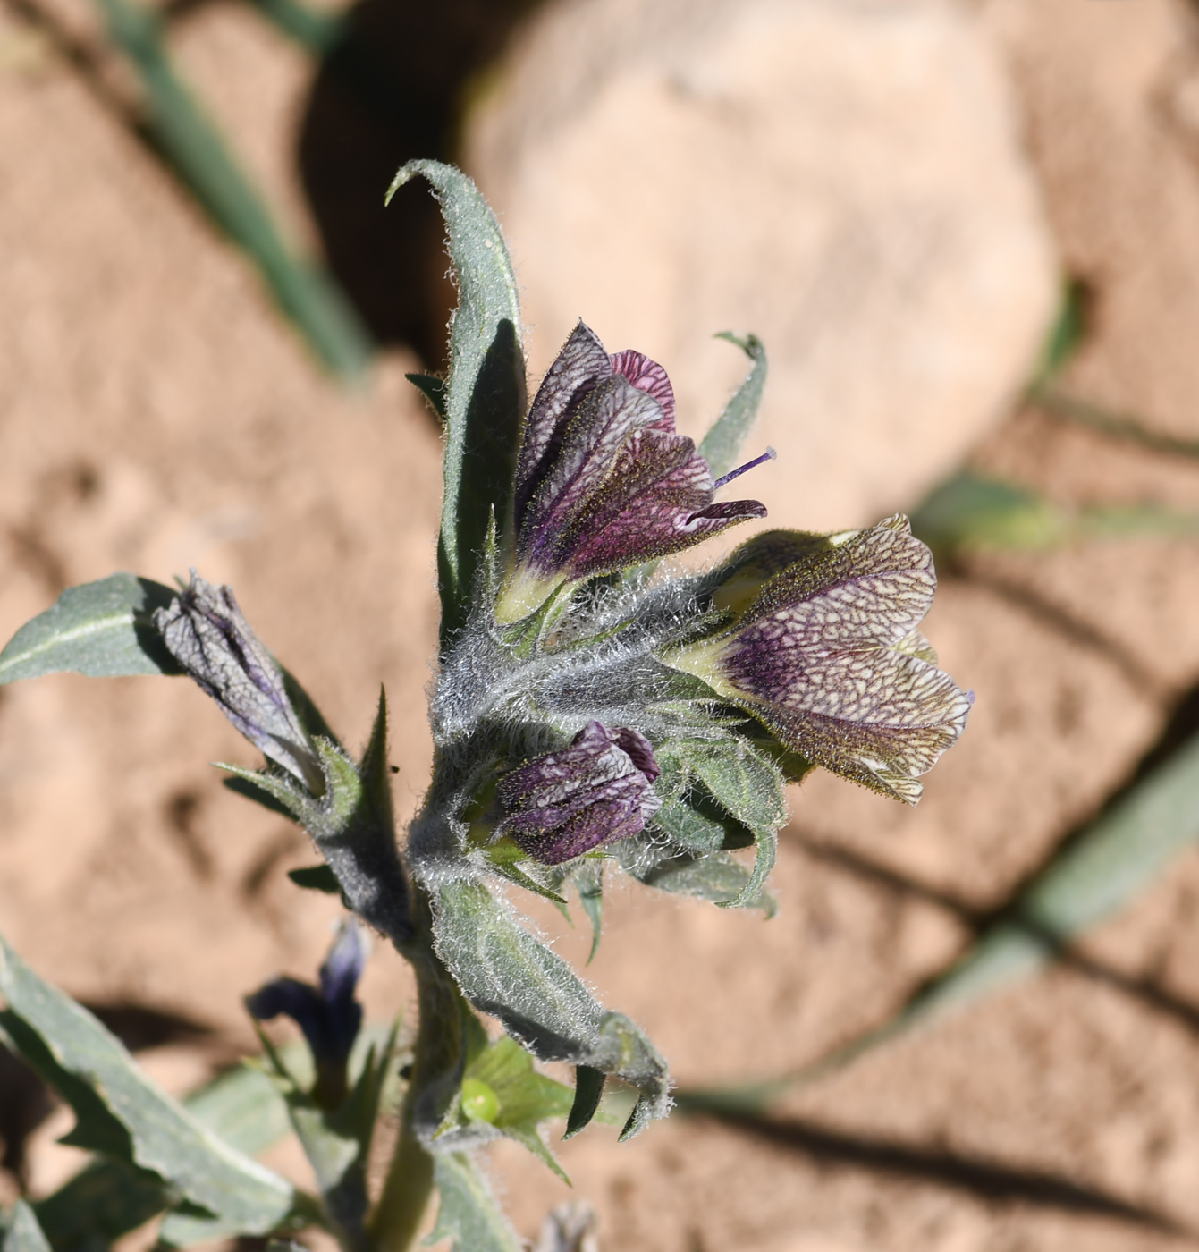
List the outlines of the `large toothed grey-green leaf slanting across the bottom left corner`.
{"label": "large toothed grey-green leaf slanting across the bottom left corner", "polygon": [[168,1183],[180,1201],[264,1234],[289,1216],[290,1183],[223,1143],[158,1088],[86,1009],[43,982],[0,938],[0,1028],[75,1111],[64,1139]]}

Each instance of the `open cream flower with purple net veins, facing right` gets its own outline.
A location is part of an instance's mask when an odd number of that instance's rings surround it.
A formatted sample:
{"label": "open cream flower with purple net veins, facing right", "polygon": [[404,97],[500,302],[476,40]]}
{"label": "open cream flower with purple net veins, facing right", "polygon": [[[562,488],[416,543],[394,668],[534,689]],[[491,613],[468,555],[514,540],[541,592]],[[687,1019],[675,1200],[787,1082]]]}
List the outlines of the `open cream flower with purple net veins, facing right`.
{"label": "open cream flower with purple net veins, facing right", "polygon": [[861,531],[768,531],[732,555],[713,601],[730,626],[667,651],[809,761],[915,804],[974,692],[916,630],[932,553],[896,516]]}

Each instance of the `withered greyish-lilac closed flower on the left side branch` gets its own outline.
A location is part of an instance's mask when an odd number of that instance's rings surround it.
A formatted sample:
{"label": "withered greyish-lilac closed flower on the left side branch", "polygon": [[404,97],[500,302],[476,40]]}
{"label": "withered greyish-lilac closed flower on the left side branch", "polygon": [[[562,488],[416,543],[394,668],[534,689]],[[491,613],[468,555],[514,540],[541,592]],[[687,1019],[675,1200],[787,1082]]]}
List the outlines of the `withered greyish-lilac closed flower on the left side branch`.
{"label": "withered greyish-lilac closed flower on the left side branch", "polygon": [[190,586],[154,613],[154,626],[170,655],[252,744],[313,795],[324,793],[317,750],[292,707],[283,672],[242,616],[232,587],[214,587],[193,570]]}

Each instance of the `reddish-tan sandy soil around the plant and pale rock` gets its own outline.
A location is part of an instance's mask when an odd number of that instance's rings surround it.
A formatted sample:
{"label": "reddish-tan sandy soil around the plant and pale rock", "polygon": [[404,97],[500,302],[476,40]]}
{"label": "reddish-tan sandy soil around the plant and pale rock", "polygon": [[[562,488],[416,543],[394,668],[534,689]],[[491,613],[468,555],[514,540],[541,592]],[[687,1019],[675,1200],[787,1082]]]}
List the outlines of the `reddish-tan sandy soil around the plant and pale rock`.
{"label": "reddish-tan sandy soil around the plant and pale rock", "polygon": [[[1011,68],[1063,257],[1094,290],[1070,386],[1199,437],[1191,10],[977,8]],[[86,41],[81,5],[55,13]],[[294,160],[312,134],[307,63],[225,4],[180,18],[174,41],[297,237],[317,238]],[[0,636],[69,583],[195,563],[235,585],[349,742],[387,685],[409,813],[429,759],[438,507],[436,434],[402,378],[416,357],[389,349],[357,396],[323,378],[94,76],[11,0],[0,154]],[[1195,463],[1033,409],[976,464],[1066,503],[1199,510]],[[1163,736],[1199,682],[1196,585],[1199,546],[1184,540],[947,572],[927,632],[979,704],[924,804],[901,811],[814,779],[792,796],[777,919],[622,889],[596,985],[686,1083],[785,1069],[884,1019]],[[222,789],[205,764],[220,759],[254,761],[183,682],[0,691],[0,926],[80,999],[123,1008],[113,1020],[175,1089],[249,1045],[240,997],[278,970],[310,975],[335,915],[283,879],[312,853]],[[602,1128],[573,1141],[562,1159],[600,1209],[605,1248],[1195,1243],[1196,898],[1189,853],[1086,940],[1089,972],[1064,967],[880,1050],[791,1098],[768,1131],[677,1119],[623,1147]],[[581,955],[584,938],[561,943]],[[408,989],[378,950],[369,1010],[393,1012]],[[0,1080],[0,1104],[35,1123],[36,1099]],[[6,1113],[6,1163],[24,1143],[34,1193],[74,1168],[51,1143],[68,1123],[55,1112],[25,1142]],[[566,1194],[516,1149],[496,1153],[493,1177],[527,1234]],[[0,1178],[13,1194],[15,1173]]]}

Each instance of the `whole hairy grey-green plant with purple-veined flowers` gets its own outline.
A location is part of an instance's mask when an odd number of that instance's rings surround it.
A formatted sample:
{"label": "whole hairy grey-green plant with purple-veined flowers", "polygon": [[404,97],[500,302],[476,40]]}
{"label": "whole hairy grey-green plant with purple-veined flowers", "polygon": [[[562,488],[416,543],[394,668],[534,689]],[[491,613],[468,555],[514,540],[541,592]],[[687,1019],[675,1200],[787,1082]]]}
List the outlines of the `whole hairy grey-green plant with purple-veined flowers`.
{"label": "whole hairy grey-green plant with purple-veined flowers", "polygon": [[[434,1237],[511,1252],[519,1244],[477,1148],[506,1136],[561,1172],[547,1122],[566,1118],[572,1136],[622,1107],[627,1138],[671,1108],[663,1058],[524,923],[521,893],[563,908],[576,895],[596,942],[613,874],[770,911],[786,781],[819,765],[915,803],[919,776],[966,724],[972,697],[916,629],[936,580],[905,518],[839,535],[767,531],[700,573],[661,563],[766,513],[717,500],[765,459],[733,468],[765,378],[757,341],[733,341],[752,369],[700,447],[675,429],[662,367],[611,356],[582,323],[526,413],[498,227],[449,167],[407,165],[392,190],[416,174],[441,199],[461,303],[448,378],[414,379],[444,421],[446,485],[433,776],[403,848],[385,701],[353,756],[232,590],[195,571],[178,591],[130,575],[70,588],[0,654],[0,681],[64,669],[190,675],[268,759],[224,769],[320,853],[299,885],[338,893],[350,914],[318,985],[284,978],[247,999],[255,1020],[289,1015],[307,1040],[297,1060],[264,1038],[263,1069],[318,1194],[158,1089],[3,948],[3,1038],[74,1107],[73,1142],[100,1158],[88,1196],[108,1237],[163,1213],[168,1247],[315,1226],[345,1249],[403,1252],[436,1189]],[[395,945],[418,987],[414,1033],[377,1034],[365,1054],[359,925]],[[492,1038],[481,1015],[503,1033]],[[573,1065],[573,1090],[534,1059]],[[397,1102],[398,1139],[372,1196],[374,1127]],[[75,1219],[86,1219],[78,1208]],[[8,1238],[40,1248],[54,1221],[46,1202],[20,1206]],[[586,1223],[573,1224],[582,1238]]]}

